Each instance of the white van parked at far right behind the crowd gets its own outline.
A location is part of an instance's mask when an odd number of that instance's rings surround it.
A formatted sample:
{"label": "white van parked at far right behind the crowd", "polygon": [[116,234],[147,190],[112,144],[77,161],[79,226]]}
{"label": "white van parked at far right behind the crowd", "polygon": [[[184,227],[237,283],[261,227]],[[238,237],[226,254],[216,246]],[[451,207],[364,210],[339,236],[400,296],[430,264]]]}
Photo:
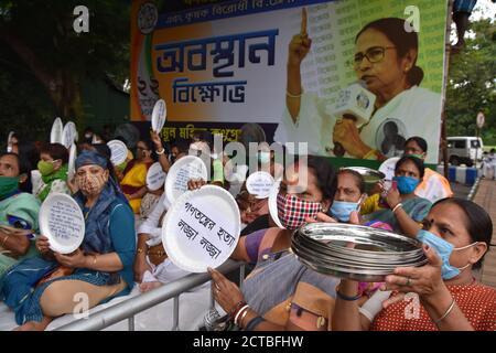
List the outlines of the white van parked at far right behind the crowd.
{"label": "white van parked at far right behind the crowd", "polygon": [[483,141],[475,136],[455,136],[448,139],[448,161],[453,165],[474,165],[483,156]]}

